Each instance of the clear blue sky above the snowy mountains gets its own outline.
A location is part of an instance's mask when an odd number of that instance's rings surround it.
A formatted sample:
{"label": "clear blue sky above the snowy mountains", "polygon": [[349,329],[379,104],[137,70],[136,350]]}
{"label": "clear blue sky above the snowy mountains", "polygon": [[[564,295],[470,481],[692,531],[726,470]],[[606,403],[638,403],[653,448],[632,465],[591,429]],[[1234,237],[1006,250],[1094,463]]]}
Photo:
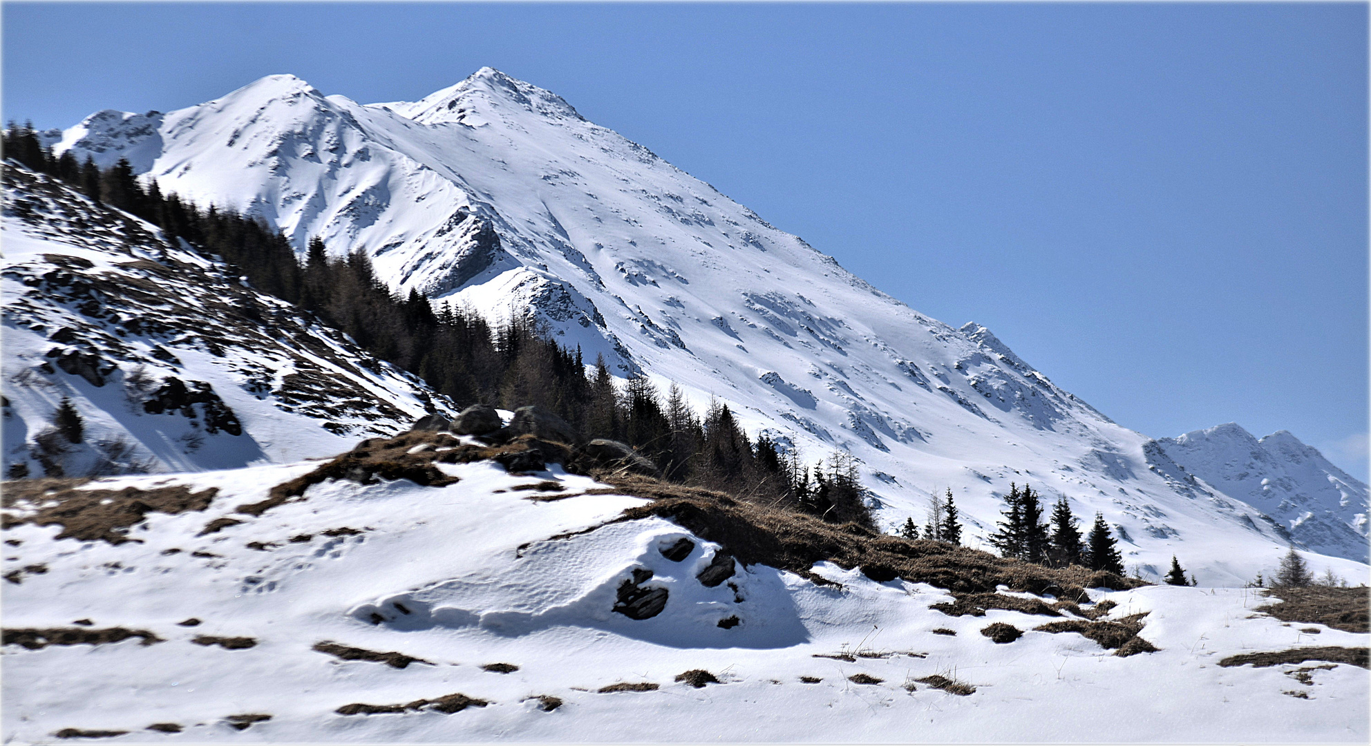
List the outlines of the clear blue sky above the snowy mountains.
{"label": "clear blue sky above the snowy mountains", "polygon": [[[5,118],[548,88],[1150,436],[1366,480],[1366,4],[5,3]],[[1360,443],[1360,447],[1356,444]]]}

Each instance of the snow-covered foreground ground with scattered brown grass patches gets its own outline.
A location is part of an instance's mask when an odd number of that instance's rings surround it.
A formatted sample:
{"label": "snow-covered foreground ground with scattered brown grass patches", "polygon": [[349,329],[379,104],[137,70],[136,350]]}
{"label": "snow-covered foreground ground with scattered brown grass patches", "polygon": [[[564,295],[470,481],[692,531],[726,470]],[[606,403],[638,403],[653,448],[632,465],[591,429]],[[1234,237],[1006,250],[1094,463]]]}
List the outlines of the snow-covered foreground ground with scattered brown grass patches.
{"label": "snow-covered foreground ground with scattered brown grass patches", "polygon": [[[55,540],[56,525],[7,529],[5,570],[29,569],[15,576],[21,584],[4,583],[5,628],[81,620],[86,629],[123,627],[162,642],[7,645],[4,742],[53,742],[64,728],[128,731],[100,741],[111,743],[1368,738],[1366,669],[1315,668],[1301,683],[1290,675],[1296,665],[1216,665],[1241,653],[1368,643],[1368,635],[1254,614],[1270,601],[1249,590],[1090,591],[1091,601],[1117,603],[1105,618],[1148,612],[1141,636],[1160,650],[1117,657],[1079,634],[1032,631],[1053,621],[1042,616],[946,616],[928,607],[950,601],[945,591],[876,583],[856,568],[817,565],[840,583],[829,587],[739,565],[727,583],[705,587],[696,575],[717,544],[661,518],[576,533],[646,501],[587,495],[603,485],[555,466],[520,476],[492,462],[439,465],[459,480],[447,487],[324,481],[259,517],[234,513],[317,466],[86,484],[218,488],[204,510],[148,513],[129,532],[138,542]],[[566,496],[529,499],[551,494],[546,481]],[[22,514],[23,506],[10,510]],[[202,535],[229,516],[240,522]],[[690,554],[665,557],[681,538],[691,539]],[[644,568],[653,577],[643,587],[668,590],[665,609],[642,621],[614,613],[617,590]],[[192,617],[200,624],[180,624]],[[739,623],[721,628],[729,617]],[[997,645],[980,634],[997,621],[1026,634]],[[255,645],[196,645],[197,636]],[[321,642],[420,661],[344,661],[313,650]],[[858,655],[816,657],[843,653]],[[483,669],[489,664],[517,671]],[[675,680],[691,669],[720,683]],[[850,680],[858,675],[880,682]],[[975,693],[914,683],[930,675]],[[616,683],[659,688],[598,691]],[[452,713],[336,712],[458,693],[485,703]],[[546,698],[561,705],[544,709],[554,703]],[[244,714],[270,719],[233,717]],[[147,730],[152,724],[182,730]]]}

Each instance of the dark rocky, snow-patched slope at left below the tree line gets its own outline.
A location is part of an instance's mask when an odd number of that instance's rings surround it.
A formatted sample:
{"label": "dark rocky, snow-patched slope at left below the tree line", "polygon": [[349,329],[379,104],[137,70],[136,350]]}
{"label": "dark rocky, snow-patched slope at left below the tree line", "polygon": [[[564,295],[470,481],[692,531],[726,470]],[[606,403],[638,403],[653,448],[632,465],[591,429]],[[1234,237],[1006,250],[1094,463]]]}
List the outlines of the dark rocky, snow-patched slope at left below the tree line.
{"label": "dark rocky, snow-patched slope at left below the tree line", "polygon": [[[7,479],[328,457],[451,411],[152,225],[19,166],[4,180]],[[52,425],[63,399],[80,443]]]}

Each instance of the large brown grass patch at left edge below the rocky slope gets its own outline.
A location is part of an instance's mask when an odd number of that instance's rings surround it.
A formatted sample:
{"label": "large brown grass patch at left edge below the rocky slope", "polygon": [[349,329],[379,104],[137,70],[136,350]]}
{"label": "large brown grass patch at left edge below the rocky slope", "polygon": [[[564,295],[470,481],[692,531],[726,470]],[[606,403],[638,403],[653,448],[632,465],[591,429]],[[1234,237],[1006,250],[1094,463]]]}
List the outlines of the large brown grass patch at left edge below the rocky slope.
{"label": "large brown grass patch at left edge below the rocky slope", "polygon": [[[21,524],[60,525],[58,539],[103,540],[111,544],[141,542],[126,536],[130,527],[143,522],[148,513],[177,514],[204,510],[218,488],[192,492],[186,485],[138,490],[85,490],[85,479],[36,479],[4,483],[0,501],[5,513],[0,528]],[[52,505],[49,505],[52,503]],[[30,512],[32,510],[32,512]]]}

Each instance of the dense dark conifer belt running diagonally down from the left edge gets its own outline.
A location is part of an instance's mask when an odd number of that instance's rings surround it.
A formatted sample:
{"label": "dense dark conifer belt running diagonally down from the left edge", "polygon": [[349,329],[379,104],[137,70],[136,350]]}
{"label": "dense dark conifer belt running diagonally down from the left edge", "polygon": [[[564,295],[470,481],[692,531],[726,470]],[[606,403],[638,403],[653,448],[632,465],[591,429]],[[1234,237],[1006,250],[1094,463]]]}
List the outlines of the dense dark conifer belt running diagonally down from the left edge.
{"label": "dense dark conifer belt running diagonally down from the left edge", "polygon": [[162,193],[154,180],[144,186],[126,159],[100,169],[70,151],[53,156],[30,123],[11,122],[3,148],[5,158],[70,184],[96,204],[159,226],[169,243],[184,240],[218,255],[259,291],[308,311],[454,402],[544,407],[588,437],[636,447],[670,481],[875,528],[850,454],[801,464],[794,450],[765,435],[750,439],[727,405],[712,403],[701,416],[675,384],[665,396],[642,374],[616,385],[603,358],[585,365],[580,347],[559,346],[529,317],[491,324],[472,309],[435,304],[418,291],[400,296],[361,250],[332,255],[313,237],[300,262],[285,234],[260,218],[215,206],[202,210]]}

